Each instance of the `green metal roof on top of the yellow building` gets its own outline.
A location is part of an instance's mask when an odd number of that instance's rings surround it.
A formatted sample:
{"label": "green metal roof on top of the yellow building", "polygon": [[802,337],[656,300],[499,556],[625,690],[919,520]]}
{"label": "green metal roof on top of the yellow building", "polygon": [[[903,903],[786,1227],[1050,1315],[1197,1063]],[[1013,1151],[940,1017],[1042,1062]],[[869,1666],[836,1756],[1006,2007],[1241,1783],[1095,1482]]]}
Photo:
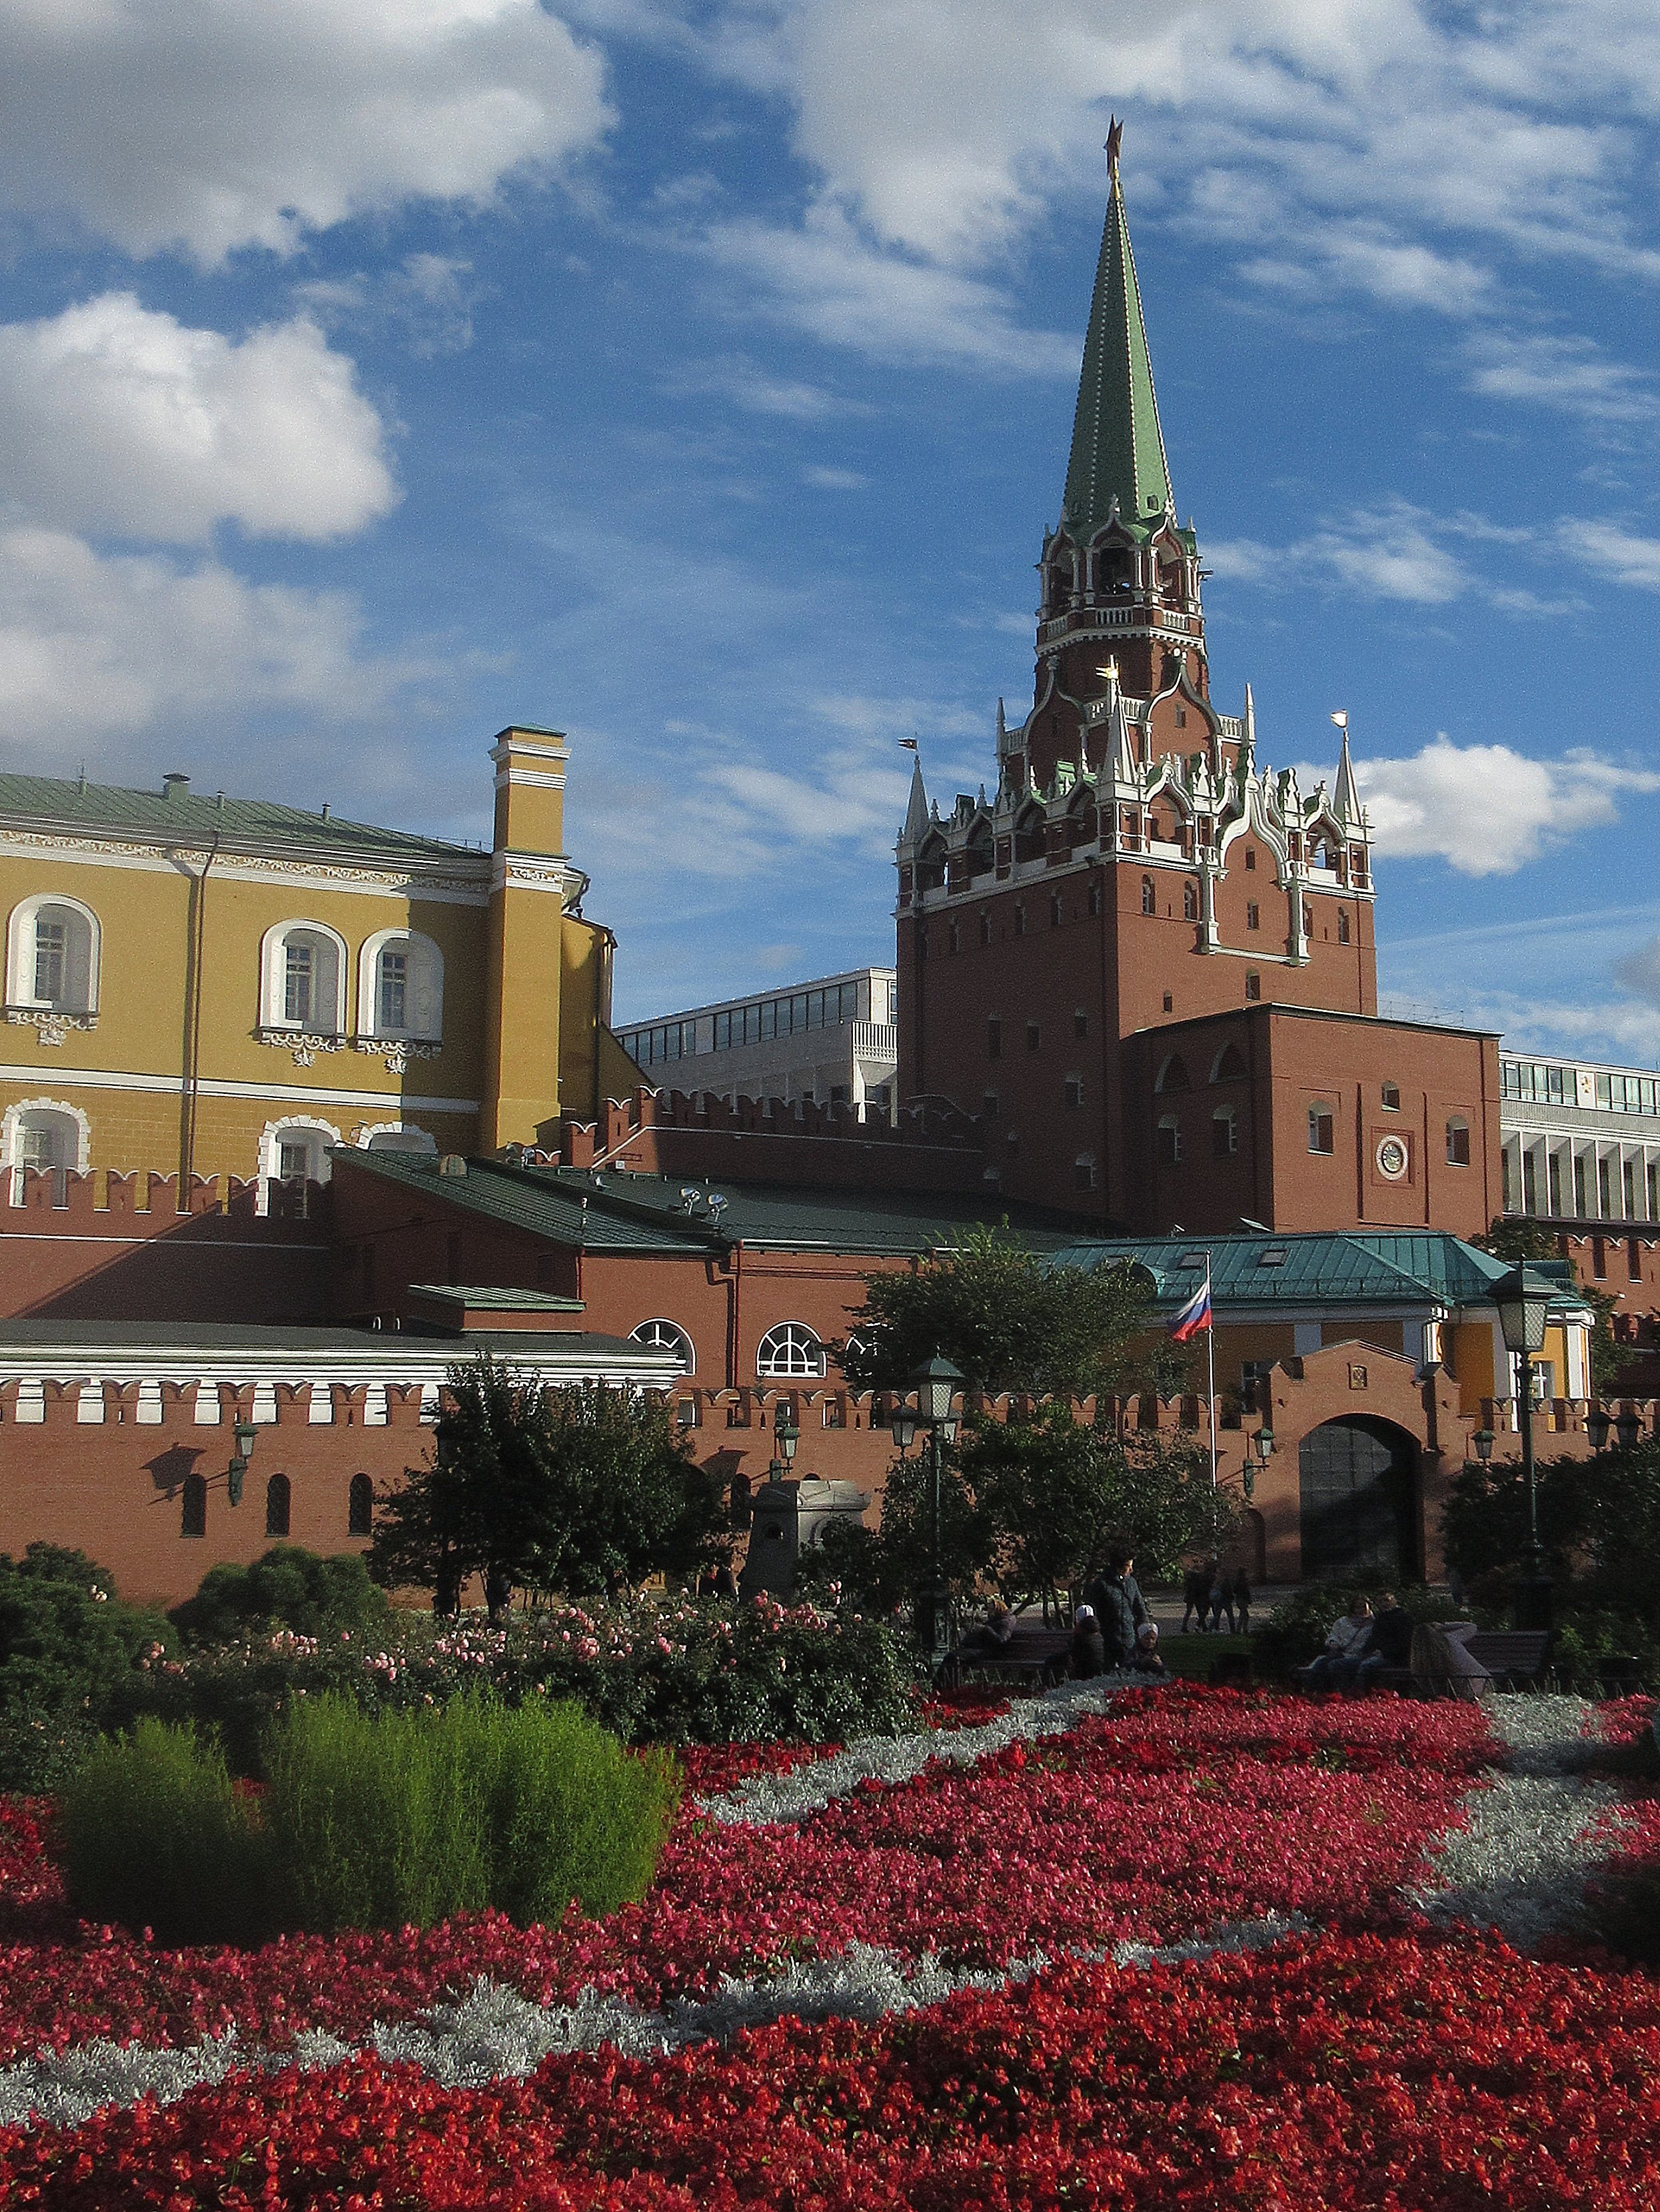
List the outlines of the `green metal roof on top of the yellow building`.
{"label": "green metal roof on top of the yellow building", "polygon": [[270,799],[212,799],[195,792],[133,792],[115,783],[69,783],[60,776],[0,776],[0,821],[31,827],[117,832],[193,849],[219,838],[228,847],[279,847],[328,852],[332,856],[392,860],[471,860],[467,845],[405,830],[376,830],[341,821],[336,814],[305,814]]}

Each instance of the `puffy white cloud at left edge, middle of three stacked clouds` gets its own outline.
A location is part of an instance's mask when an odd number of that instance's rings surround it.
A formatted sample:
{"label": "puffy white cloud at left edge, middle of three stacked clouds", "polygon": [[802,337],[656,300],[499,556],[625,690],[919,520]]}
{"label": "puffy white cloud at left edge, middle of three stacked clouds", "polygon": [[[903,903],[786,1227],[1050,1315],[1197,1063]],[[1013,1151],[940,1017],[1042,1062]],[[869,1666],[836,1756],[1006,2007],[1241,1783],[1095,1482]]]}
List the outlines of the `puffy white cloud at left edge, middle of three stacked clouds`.
{"label": "puffy white cloud at left edge, middle of three stacked clouds", "polygon": [[106,292],[0,325],[0,489],[35,520],[173,542],[341,538],[396,487],[352,363],[310,321],[241,343]]}

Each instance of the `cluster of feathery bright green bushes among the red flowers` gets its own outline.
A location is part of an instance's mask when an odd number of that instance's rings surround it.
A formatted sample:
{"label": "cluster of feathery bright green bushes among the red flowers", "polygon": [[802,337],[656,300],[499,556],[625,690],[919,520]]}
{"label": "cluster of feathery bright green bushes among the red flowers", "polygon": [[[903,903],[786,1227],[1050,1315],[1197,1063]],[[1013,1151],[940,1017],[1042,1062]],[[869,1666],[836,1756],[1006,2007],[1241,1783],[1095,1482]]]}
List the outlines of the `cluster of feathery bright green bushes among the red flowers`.
{"label": "cluster of feathery bright green bushes among the red flowers", "polygon": [[520,1927],[644,1896],[679,1803],[666,1752],[631,1754],[573,1705],[367,1714],[299,1701],[266,1743],[266,1792],[195,1728],[139,1721],[62,1801],[71,1905],[162,1942],[279,1929],[432,1927],[496,1909]]}

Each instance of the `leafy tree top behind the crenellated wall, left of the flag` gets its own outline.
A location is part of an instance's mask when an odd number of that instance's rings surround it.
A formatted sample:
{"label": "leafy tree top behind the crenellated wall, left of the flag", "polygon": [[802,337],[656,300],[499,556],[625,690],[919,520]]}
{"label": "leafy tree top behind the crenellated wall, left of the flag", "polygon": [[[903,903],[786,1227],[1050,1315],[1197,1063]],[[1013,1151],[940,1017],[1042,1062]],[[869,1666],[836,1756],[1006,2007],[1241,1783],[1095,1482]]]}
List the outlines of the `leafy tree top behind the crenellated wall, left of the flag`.
{"label": "leafy tree top behind the crenellated wall, left of the flag", "polygon": [[857,1389],[903,1389],[936,1352],[972,1391],[1169,1391],[1186,1371],[1162,1336],[1147,1343],[1155,1314],[1144,1267],[1054,1267],[1007,1225],[976,1225],[914,1272],[868,1274],[852,1318],[839,1352]]}

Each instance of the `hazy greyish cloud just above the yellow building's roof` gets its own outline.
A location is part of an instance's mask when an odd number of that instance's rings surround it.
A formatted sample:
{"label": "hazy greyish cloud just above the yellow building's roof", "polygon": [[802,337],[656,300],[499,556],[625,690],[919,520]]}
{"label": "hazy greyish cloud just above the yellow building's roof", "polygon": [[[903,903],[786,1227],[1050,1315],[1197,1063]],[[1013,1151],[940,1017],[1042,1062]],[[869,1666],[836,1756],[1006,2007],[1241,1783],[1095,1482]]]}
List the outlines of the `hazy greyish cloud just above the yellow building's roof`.
{"label": "hazy greyish cloud just above the yellow building's roof", "polygon": [[64,531],[0,531],[0,748],[40,765],[89,748],[270,710],[339,723],[374,714],[418,670],[361,653],[339,593],[248,584],[204,562],[100,555]]}

